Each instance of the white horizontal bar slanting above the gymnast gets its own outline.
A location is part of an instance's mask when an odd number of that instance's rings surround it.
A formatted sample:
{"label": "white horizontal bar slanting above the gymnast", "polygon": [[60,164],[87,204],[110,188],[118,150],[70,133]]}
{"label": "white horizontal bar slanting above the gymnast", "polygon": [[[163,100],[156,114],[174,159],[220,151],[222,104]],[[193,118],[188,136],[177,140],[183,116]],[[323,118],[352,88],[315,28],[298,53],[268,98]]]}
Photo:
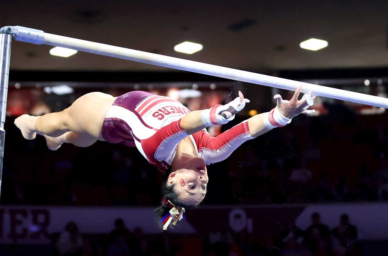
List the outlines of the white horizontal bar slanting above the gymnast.
{"label": "white horizontal bar slanting above the gymnast", "polygon": [[[27,31],[26,28],[23,29]],[[29,39],[26,39],[25,33],[22,37],[24,42],[31,42],[29,41]],[[309,90],[312,90],[313,95],[317,96],[388,108],[388,99],[383,97],[377,97],[357,92],[350,92],[326,86],[314,85],[312,83],[303,83],[284,78],[277,78],[274,76],[267,76],[264,74],[242,71],[239,69],[232,69],[229,67],[221,67],[196,61],[178,59],[175,57],[152,54],[149,52],[142,52],[138,50],[106,45],[103,43],[95,43],[66,36],[53,35],[49,33],[44,33],[43,38],[43,44],[46,45],[71,48],[74,50],[89,52],[92,54],[105,55],[109,57],[125,59],[129,61],[137,61],[162,67],[170,67],[194,73],[207,74],[210,76],[217,76],[231,80],[254,83],[258,85],[266,85],[291,91],[296,90],[298,86],[302,85],[302,92],[304,93],[308,92]],[[17,36],[16,40],[18,40]]]}

